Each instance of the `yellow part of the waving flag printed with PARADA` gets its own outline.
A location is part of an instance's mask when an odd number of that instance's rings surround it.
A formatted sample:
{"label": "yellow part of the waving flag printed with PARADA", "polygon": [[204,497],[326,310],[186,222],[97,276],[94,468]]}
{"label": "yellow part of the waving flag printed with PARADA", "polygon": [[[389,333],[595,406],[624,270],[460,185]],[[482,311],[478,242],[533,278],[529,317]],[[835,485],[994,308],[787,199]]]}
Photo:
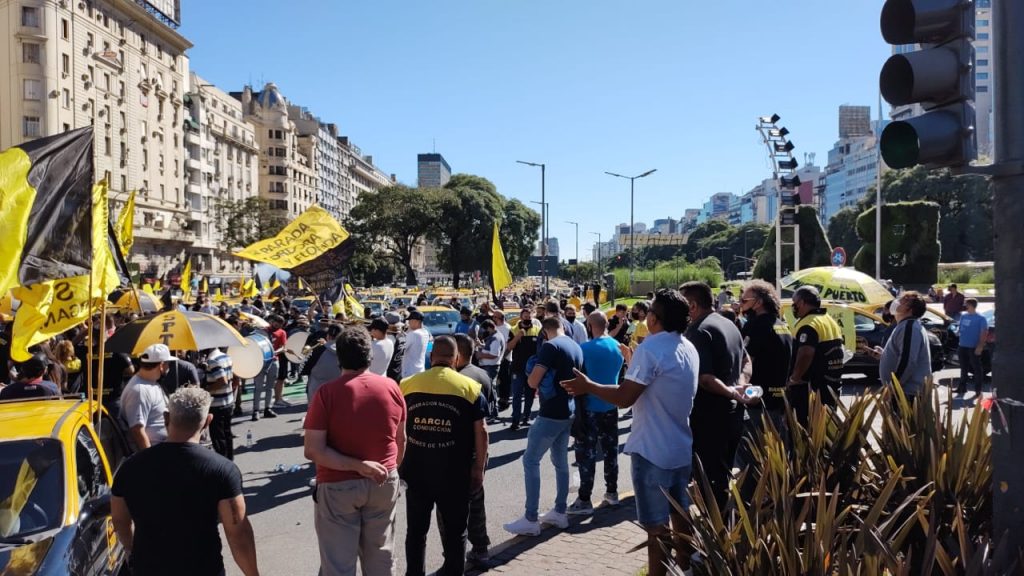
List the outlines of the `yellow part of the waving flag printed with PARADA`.
{"label": "yellow part of the waving flag printed with PARADA", "polygon": [[308,262],[348,238],[348,232],[319,206],[292,220],[278,236],[246,247],[237,256],[289,270]]}

